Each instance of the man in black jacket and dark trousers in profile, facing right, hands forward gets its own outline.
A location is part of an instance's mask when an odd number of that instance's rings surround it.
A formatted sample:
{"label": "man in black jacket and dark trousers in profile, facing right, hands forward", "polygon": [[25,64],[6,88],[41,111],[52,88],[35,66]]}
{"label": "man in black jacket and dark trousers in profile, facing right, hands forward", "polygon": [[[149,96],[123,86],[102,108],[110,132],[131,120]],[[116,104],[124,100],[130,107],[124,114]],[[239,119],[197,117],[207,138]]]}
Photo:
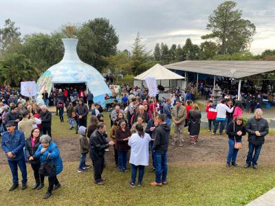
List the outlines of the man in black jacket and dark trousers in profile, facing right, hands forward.
{"label": "man in black jacket and dark trousers in profile, facing right, hands forward", "polygon": [[104,168],[105,149],[114,144],[113,141],[108,143],[106,137],[106,124],[100,122],[90,137],[90,157],[94,165],[94,183],[98,185],[104,185],[105,180],[101,176]]}

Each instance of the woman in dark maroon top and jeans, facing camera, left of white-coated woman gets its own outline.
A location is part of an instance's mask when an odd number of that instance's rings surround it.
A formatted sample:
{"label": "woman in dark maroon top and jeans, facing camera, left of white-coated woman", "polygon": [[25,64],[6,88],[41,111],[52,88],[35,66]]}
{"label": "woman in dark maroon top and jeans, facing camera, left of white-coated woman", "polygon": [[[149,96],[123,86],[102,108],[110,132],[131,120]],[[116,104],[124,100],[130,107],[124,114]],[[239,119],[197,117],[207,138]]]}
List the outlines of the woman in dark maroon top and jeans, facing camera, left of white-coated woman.
{"label": "woman in dark maroon top and jeans, facing camera, left of white-coated woman", "polygon": [[127,154],[129,150],[128,140],[131,137],[131,132],[126,126],[124,119],[120,119],[118,123],[120,128],[115,130],[115,148],[118,150],[118,170],[126,172],[127,169]]}

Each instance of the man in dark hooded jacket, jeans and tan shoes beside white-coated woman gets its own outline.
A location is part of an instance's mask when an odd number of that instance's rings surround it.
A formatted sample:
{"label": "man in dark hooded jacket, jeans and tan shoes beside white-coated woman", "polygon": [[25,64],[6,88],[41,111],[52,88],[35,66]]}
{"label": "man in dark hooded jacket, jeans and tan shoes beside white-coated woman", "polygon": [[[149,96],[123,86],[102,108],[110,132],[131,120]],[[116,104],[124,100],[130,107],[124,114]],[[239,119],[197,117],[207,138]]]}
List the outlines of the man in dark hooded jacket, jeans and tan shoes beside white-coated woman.
{"label": "man in dark hooded jacket, jeans and tan shoes beside white-coated woman", "polygon": [[168,172],[167,150],[170,138],[170,126],[165,123],[165,115],[157,115],[155,122],[155,139],[153,151],[155,152],[155,181],[151,182],[152,186],[166,185]]}

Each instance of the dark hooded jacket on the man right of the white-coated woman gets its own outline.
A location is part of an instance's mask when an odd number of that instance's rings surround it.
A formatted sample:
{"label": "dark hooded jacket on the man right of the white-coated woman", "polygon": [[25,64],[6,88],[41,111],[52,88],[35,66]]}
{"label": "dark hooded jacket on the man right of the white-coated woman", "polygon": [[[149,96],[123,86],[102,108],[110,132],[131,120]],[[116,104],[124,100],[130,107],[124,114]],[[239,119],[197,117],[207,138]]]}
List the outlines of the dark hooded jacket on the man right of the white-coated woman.
{"label": "dark hooded jacket on the man right of the white-coated woman", "polygon": [[154,151],[166,151],[168,150],[170,138],[170,127],[167,124],[159,124],[155,128],[155,140],[153,144]]}

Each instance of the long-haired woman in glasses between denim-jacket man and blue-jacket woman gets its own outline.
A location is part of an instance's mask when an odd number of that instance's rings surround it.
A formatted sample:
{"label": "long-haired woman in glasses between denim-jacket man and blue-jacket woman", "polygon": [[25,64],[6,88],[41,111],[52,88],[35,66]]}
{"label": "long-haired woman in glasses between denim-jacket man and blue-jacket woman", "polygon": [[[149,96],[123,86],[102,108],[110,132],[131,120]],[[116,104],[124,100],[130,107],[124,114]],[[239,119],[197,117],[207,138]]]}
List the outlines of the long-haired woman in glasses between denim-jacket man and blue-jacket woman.
{"label": "long-haired woman in glasses between denim-jacket man and blue-jacket woman", "polygon": [[44,176],[39,175],[39,168],[41,166],[39,158],[34,158],[34,153],[40,145],[40,130],[39,128],[33,128],[30,137],[25,141],[25,157],[27,157],[32,170],[34,171],[35,185],[32,190],[41,190],[44,187]]}

